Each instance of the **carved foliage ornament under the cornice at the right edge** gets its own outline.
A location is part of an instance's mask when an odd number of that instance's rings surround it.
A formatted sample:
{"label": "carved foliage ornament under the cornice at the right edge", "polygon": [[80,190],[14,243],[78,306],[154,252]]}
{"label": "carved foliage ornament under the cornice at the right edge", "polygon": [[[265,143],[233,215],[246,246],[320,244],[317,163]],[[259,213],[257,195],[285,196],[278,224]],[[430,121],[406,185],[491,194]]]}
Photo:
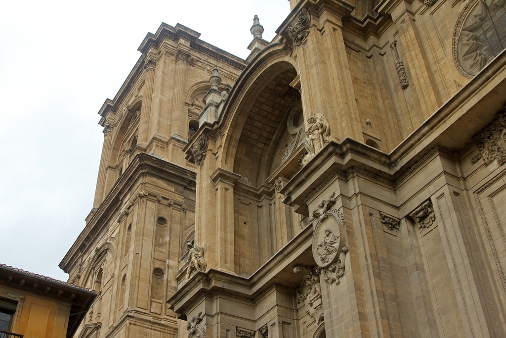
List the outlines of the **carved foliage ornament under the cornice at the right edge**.
{"label": "carved foliage ornament under the cornice at the right edge", "polygon": [[480,153],[471,159],[475,164],[483,159],[486,165],[497,160],[499,165],[506,162],[506,112],[498,114],[497,119],[473,137]]}

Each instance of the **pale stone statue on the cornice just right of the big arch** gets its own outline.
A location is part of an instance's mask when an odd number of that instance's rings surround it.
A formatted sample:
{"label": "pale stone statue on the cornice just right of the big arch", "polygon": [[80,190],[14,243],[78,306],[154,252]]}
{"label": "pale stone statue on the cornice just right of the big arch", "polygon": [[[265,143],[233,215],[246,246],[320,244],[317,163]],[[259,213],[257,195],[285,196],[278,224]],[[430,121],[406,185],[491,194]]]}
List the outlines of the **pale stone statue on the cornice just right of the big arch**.
{"label": "pale stone statue on the cornice just right of the big arch", "polygon": [[306,139],[303,141],[308,154],[302,159],[305,165],[330,141],[330,125],[327,119],[319,113],[316,117],[308,117],[308,129],[306,129]]}

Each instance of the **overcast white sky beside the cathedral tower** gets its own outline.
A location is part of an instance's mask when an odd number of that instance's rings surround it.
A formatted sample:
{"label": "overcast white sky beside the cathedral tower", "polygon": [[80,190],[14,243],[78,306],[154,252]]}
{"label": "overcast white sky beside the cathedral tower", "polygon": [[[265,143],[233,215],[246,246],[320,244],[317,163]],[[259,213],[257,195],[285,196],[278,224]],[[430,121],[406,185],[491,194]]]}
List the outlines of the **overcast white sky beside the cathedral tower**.
{"label": "overcast white sky beside the cathedral tower", "polygon": [[67,280],[58,264],[92,208],[103,134],[98,110],[161,22],[245,58],[287,0],[6,1],[0,10],[0,263]]}

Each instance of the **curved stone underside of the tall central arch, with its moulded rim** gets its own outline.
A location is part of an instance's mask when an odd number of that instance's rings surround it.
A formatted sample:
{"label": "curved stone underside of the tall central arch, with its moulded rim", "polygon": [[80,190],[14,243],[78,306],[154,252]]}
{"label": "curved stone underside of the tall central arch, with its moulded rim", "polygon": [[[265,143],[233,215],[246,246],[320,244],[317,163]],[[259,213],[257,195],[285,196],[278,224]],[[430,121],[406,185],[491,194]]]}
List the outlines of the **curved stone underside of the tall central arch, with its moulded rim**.
{"label": "curved stone underside of the tall central arch, with its moulded rim", "polygon": [[[222,114],[221,125],[227,132],[224,133],[221,167],[235,172],[238,168],[235,163],[241,160],[241,156],[237,155],[243,149],[241,146],[265,153],[286,112],[288,102],[285,94],[293,90],[289,84],[297,77],[296,67],[294,60],[286,56],[283,46],[274,44],[241,73]],[[262,137],[260,133],[246,129],[251,129],[253,125],[263,131]]]}

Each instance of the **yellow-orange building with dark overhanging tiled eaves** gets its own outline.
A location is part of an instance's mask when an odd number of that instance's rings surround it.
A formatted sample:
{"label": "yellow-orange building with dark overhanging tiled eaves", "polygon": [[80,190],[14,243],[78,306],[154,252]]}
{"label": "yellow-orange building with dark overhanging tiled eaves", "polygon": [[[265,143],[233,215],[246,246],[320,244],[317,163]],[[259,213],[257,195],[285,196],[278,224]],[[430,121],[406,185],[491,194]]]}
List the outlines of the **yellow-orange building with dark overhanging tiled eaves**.
{"label": "yellow-orange building with dark overhanging tiled eaves", "polygon": [[0,265],[0,337],[71,337],[94,301],[89,289]]}

